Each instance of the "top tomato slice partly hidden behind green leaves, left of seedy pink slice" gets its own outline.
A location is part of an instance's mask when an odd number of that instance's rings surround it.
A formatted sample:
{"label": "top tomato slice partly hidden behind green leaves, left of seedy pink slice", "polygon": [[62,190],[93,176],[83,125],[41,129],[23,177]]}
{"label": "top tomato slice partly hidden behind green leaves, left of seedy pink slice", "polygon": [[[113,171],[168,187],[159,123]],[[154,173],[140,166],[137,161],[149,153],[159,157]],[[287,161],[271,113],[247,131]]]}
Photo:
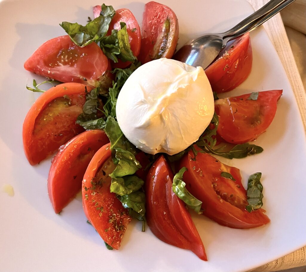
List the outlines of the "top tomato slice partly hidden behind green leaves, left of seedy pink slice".
{"label": "top tomato slice partly hidden behind green leaves, left of seedy pink slice", "polygon": [[[101,6],[94,6],[93,12],[95,18],[100,16]],[[110,27],[106,35],[110,35],[113,29],[120,30],[120,22],[124,22],[126,24],[126,30],[129,34],[129,42],[131,46],[131,50],[135,57],[139,55],[140,52],[140,42],[141,42],[141,34],[139,24],[133,15],[133,13],[129,9],[117,9],[116,14],[110,22]],[[111,65],[113,68],[125,68],[129,66],[131,62],[129,61],[121,61],[118,59],[118,63],[112,62]]]}

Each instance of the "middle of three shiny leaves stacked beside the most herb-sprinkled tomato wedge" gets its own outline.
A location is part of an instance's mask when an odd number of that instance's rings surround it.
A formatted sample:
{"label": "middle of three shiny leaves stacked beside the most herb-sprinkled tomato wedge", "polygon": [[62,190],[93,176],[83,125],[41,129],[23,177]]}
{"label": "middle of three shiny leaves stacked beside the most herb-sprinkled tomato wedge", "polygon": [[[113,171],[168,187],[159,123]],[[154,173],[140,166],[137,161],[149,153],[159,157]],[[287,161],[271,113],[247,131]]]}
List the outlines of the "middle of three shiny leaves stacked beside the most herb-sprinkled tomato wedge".
{"label": "middle of three shiny leaves stacked beside the most herb-sprinkled tomato wedge", "polygon": [[129,195],[130,193],[136,192],[143,185],[144,181],[135,175],[117,177],[110,174],[112,182],[110,184],[110,192],[116,193],[119,196]]}

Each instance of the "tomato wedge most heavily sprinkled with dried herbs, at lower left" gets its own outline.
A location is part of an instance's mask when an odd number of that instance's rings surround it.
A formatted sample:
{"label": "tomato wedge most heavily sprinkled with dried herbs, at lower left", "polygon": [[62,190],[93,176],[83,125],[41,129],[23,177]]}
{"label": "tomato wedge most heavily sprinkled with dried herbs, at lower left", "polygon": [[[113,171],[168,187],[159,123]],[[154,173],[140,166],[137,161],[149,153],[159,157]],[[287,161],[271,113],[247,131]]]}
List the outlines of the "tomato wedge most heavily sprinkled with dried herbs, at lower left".
{"label": "tomato wedge most heavily sprinkled with dried herbs, at lower left", "polygon": [[115,193],[110,193],[111,178],[108,175],[114,169],[110,145],[104,145],[95,153],[85,172],[82,202],[86,217],[102,239],[119,249],[131,217]]}

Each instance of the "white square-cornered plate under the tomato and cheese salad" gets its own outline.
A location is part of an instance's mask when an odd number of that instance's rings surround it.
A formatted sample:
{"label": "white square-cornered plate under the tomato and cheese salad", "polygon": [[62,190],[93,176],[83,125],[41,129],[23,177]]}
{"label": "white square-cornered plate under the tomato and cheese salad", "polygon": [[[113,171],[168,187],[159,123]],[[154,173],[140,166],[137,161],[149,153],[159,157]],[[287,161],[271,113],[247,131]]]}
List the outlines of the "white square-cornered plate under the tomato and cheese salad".
{"label": "white square-cornered plate under the tomato and cheese salad", "polygon": [[[128,2],[127,2],[128,1]],[[179,19],[182,45],[204,32],[225,31],[252,13],[243,0],[163,0]],[[43,42],[64,35],[62,21],[86,23],[94,0],[24,0],[0,3],[1,25],[1,180],[15,195],[0,193],[0,270],[2,271],[246,271],[306,244],[306,140],[296,100],[282,64],[263,28],[251,34],[253,67],[248,79],[232,94],[284,89],[278,110],[257,145],[264,152],[242,160],[222,160],[248,175],[261,171],[267,226],[235,230],[195,216],[208,262],[192,252],[155,238],[138,222],[129,225],[119,251],[109,251],[86,223],[80,197],[61,215],[52,209],[47,194],[50,159],[31,167],[23,152],[22,123],[39,94],[25,89],[35,76],[24,61]],[[108,2],[127,7],[141,22],[144,4]]]}

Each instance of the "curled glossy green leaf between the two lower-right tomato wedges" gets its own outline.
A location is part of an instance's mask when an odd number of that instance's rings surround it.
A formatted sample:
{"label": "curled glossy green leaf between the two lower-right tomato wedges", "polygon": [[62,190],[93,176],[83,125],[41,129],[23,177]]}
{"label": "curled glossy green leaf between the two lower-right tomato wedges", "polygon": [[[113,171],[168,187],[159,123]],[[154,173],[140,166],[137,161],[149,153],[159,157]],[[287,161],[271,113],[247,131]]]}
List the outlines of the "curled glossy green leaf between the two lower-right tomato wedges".
{"label": "curled glossy green leaf between the two lower-right tomato wedges", "polygon": [[183,174],[187,171],[186,167],[181,168],[177,174],[174,175],[172,190],[177,195],[178,198],[183,200],[188,208],[193,209],[196,213],[200,214],[202,201],[194,197],[188,190],[185,188],[186,183],[183,181]]}

